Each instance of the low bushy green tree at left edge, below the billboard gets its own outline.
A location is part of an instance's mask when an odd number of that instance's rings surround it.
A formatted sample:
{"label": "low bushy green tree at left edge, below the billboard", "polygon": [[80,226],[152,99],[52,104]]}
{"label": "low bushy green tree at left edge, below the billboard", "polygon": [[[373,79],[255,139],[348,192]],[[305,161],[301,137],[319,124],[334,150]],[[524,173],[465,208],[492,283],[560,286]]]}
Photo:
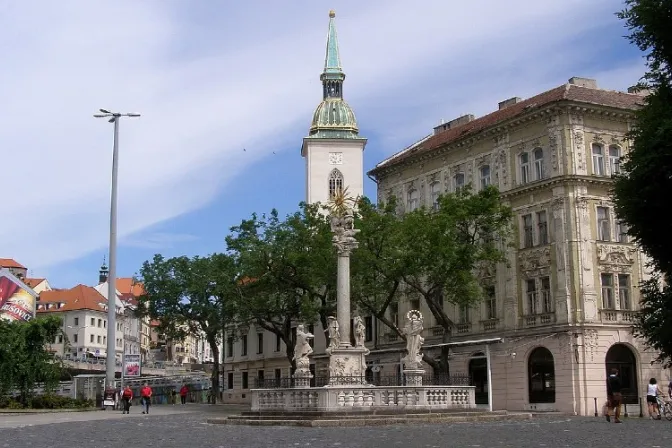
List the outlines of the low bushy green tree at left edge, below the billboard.
{"label": "low bushy green tree at left edge, below the billboard", "polygon": [[62,365],[47,346],[62,334],[63,321],[47,316],[29,322],[0,320],[0,396],[18,391],[24,406],[29,404],[37,384],[53,391]]}

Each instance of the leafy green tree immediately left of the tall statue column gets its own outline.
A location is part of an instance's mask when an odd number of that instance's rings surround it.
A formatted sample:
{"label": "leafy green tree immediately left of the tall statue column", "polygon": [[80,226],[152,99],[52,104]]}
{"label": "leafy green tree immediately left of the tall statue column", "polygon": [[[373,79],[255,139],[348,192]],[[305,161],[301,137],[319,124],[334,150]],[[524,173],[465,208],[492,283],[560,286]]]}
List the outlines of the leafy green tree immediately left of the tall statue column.
{"label": "leafy green tree immediately left of the tall statue column", "polygon": [[280,337],[294,369],[293,325],[319,317],[326,327],[333,311],[336,260],[328,222],[319,205],[301,204],[284,220],[276,210],[254,214],[231,232],[227,245],[244,284],[241,321]]}

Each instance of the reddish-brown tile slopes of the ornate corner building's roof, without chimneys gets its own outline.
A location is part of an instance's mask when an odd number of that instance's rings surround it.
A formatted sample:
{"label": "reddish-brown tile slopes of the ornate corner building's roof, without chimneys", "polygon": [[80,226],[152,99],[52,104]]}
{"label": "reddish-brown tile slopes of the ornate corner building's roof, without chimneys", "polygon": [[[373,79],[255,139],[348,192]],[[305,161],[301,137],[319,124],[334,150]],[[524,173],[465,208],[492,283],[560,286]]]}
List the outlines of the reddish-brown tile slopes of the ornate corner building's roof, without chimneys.
{"label": "reddish-brown tile slopes of the ornate corner building's roof, without chimneys", "polygon": [[506,120],[523,115],[526,112],[539,109],[562,101],[593,104],[596,106],[615,109],[634,110],[642,103],[642,96],[634,93],[617,92],[582,87],[574,84],[564,84],[539,95],[512,104],[505,109],[484,115],[471,122],[455,126],[436,135],[420,141],[406,150],[400,151],[390,158],[380,162],[368,174],[376,175],[381,170],[395,166],[402,161],[424,154],[441,146],[454,143],[462,138],[473,136],[480,131],[498,125]]}

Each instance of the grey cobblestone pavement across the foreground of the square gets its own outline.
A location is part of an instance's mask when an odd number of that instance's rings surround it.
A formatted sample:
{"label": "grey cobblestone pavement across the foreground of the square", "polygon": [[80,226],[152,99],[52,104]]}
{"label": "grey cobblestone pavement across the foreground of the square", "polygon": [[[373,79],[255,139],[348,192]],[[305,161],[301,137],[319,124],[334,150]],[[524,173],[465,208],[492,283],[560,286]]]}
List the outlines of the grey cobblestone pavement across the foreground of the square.
{"label": "grey cobblestone pavement across the foreground of the square", "polygon": [[[85,424],[64,422],[0,429],[0,446],[72,448],[160,446],[162,448],[339,447],[594,447],[672,446],[672,423],[629,419],[609,424],[600,418],[542,417],[524,422],[423,424],[370,428],[291,428],[208,425],[225,407],[186,406],[162,415],[131,414]],[[157,409],[159,407],[157,406]],[[175,413],[171,413],[175,412]],[[21,416],[26,422],[34,416]],[[119,418],[123,417],[123,418]],[[4,420],[7,416],[0,416]],[[54,418],[54,417],[52,417]],[[79,417],[84,418],[84,417]],[[16,424],[15,424],[16,425]]]}

